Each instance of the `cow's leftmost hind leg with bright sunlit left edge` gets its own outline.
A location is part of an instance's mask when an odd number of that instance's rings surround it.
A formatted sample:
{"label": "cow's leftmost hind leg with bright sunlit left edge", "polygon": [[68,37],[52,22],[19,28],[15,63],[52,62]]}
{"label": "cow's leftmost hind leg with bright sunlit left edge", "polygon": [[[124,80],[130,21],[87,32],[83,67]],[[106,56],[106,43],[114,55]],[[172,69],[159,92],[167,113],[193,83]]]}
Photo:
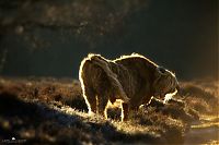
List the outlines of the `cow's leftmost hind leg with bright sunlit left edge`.
{"label": "cow's leftmost hind leg with bright sunlit left edge", "polygon": [[92,112],[96,113],[96,96],[95,93],[91,89],[85,89],[84,90],[85,95],[85,102],[89,108],[89,113],[91,114]]}

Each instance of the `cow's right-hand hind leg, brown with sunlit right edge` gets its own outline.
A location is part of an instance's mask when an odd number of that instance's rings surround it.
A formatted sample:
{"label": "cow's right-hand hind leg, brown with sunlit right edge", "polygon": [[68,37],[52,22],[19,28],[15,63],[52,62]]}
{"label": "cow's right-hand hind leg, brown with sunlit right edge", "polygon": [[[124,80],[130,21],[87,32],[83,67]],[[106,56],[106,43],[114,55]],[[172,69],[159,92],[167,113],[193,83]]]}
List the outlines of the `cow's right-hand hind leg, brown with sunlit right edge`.
{"label": "cow's right-hand hind leg, brown with sunlit right edge", "polygon": [[105,119],[107,119],[107,110],[106,110],[106,106],[108,102],[108,99],[106,97],[103,96],[97,96],[97,112],[103,116]]}

